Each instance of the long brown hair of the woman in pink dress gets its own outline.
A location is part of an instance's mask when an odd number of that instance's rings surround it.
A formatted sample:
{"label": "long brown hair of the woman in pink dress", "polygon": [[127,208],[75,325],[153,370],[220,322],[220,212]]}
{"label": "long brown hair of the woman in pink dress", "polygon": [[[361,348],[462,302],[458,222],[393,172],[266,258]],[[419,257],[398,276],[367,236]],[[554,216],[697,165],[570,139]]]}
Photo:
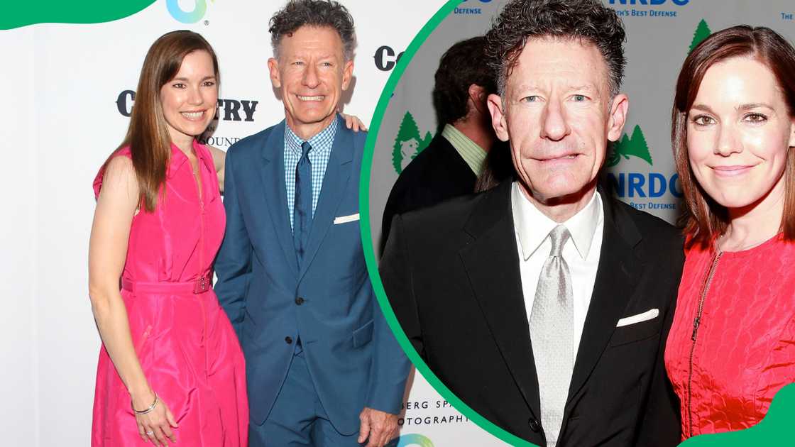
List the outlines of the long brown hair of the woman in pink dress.
{"label": "long brown hair of the woman in pink dress", "polygon": [[220,85],[218,59],[204,37],[187,30],[163,34],[146,52],[130,126],[127,127],[122,144],[111,154],[112,158],[118,150],[130,146],[135,177],[138,178],[141,191],[140,206],[147,212],[153,212],[157,206],[158,191],[165,181],[171,157],[171,136],[163,115],[160,90],[180,71],[184,57],[194,51],[210,54],[215,82]]}

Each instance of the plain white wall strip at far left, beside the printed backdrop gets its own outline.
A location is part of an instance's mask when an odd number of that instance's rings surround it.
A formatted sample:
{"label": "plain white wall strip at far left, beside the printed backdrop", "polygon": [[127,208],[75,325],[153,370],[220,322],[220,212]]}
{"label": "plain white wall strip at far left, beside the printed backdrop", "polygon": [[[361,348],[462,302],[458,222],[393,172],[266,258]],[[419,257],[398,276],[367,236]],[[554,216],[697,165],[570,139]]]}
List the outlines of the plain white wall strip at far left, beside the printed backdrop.
{"label": "plain white wall strip at far left, beside the printed backdrop", "polygon": [[[4,194],[0,213],[0,426],[3,442],[24,445],[37,437],[37,301],[35,264],[37,234],[37,132],[33,121],[33,32],[17,33],[16,45],[3,45],[3,59],[13,61],[0,70],[0,141],[5,161],[0,185]],[[7,67],[13,66],[10,70]]]}

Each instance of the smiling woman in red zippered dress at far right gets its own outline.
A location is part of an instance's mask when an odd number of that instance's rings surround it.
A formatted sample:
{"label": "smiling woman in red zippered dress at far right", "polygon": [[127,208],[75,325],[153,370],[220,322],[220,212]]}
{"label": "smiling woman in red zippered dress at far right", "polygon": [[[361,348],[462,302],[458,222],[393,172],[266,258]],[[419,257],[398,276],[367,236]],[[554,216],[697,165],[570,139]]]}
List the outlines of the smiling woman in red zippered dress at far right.
{"label": "smiling woman in red zippered dress at far right", "polygon": [[682,438],[741,430],[795,380],[795,50],[767,28],[684,61],[673,150],[686,261],[665,367]]}

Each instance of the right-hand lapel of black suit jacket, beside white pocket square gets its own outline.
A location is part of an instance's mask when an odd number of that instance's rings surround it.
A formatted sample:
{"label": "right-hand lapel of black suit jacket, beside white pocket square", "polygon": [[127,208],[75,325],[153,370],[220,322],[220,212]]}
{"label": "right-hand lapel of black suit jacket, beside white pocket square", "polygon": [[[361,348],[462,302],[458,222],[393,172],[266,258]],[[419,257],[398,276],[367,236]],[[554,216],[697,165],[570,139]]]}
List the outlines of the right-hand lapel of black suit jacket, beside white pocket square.
{"label": "right-hand lapel of black suit jacket, beside white pocket square", "polygon": [[594,290],[588,315],[585,317],[580,347],[572,371],[572,383],[568,388],[568,401],[576,395],[588,380],[610,340],[615,325],[622,317],[630,297],[638,286],[643,264],[634,253],[641,235],[630,216],[612,203],[609,195],[602,192],[604,209],[604,231],[599,266],[596,270]]}

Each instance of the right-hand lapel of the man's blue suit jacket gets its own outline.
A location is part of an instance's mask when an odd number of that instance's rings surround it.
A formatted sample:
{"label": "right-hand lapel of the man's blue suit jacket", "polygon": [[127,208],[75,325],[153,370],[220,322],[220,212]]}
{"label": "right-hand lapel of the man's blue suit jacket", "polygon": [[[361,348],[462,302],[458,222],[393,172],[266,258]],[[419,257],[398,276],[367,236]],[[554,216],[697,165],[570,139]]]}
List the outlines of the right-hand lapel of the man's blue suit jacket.
{"label": "right-hand lapel of the man's blue suit jacket", "polygon": [[[307,244],[306,257],[301,265],[298,280],[304,278],[304,274],[312,264],[320,243],[332,226],[335,212],[339,208],[339,202],[343,200],[343,193],[351,178],[351,165],[353,161],[353,131],[345,127],[341,118],[337,117],[337,133],[332,145],[332,154],[328,159],[326,173],[323,177],[323,186],[320,188],[320,198],[317,201],[315,216],[312,218],[312,230],[309,231],[309,242]],[[292,239],[290,239],[292,240]]]}

